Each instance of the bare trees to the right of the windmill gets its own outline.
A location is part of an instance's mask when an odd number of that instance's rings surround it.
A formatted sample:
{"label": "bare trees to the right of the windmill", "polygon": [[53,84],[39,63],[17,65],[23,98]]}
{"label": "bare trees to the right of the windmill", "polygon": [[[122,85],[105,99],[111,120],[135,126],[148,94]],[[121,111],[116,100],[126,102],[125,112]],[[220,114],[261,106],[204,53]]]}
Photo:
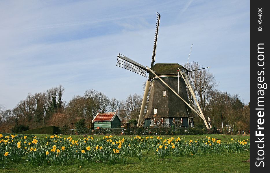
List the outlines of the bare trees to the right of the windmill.
{"label": "bare trees to the right of the windmill", "polygon": [[[197,62],[185,64],[184,67],[189,71],[203,68]],[[223,123],[223,128],[232,125],[235,131],[249,130],[249,104],[243,104],[240,95],[217,90],[218,83],[207,69],[193,71],[188,75],[202,112],[206,119],[210,117],[212,126],[222,127]],[[191,92],[187,93],[189,101],[196,105]],[[203,120],[197,115],[195,117],[195,124],[204,126]]]}

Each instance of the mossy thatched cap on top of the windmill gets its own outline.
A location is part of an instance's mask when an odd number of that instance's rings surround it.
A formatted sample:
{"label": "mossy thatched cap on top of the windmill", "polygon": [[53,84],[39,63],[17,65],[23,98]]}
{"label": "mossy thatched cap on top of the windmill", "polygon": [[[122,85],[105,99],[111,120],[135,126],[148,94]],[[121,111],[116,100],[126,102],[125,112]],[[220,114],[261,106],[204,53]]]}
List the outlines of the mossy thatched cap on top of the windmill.
{"label": "mossy thatched cap on top of the windmill", "polygon": [[[182,65],[177,64],[177,63],[157,63],[155,64],[151,70],[154,70],[158,76],[160,75],[178,75],[177,69],[184,68]],[[185,68],[184,68],[185,69]],[[154,74],[149,74],[150,78],[153,78],[155,75]]]}

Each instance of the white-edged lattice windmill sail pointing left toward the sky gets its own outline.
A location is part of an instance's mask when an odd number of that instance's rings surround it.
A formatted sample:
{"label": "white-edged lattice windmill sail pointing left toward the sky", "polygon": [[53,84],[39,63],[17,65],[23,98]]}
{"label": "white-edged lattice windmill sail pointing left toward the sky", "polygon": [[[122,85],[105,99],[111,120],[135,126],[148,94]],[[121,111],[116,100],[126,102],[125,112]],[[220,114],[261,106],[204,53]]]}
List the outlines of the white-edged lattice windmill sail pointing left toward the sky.
{"label": "white-edged lattice windmill sail pointing left toward the sky", "polygon": [[145,66],[137,63],[136,61],[133,61],[132,59],[129,59],[128,57],[120,53],[117,56],[116,66],[122,67],[124,69],[130,70],[134,73],[137,73],[139,75],[146,77],[147,69]]}

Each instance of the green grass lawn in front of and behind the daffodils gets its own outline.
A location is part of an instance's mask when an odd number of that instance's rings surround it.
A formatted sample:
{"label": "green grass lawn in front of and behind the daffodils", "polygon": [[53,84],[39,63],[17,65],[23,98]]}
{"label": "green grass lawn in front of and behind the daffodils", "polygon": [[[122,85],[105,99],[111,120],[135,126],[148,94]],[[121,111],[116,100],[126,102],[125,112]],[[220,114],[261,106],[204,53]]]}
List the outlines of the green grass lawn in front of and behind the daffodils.
{"label": "green grass lawn in front of and behind the daffodils", "polygon": [[[38,138],[47,135],[36,135]],[[68,137],[69,135],[63,135]],[[104,136],[91,135],[95,139],[101,139]],[[233,136],[210,134],[211,138],[221,139],[223,142],[234,140],[246,140],[249,136]],[[84,138],[82,135],[72,135],[74,140]],[[129,138],[130,136],[119,136],[121,138]],[[133,136],[132,136],[133,137]],[[156,136],[154,136],[156,137]],[[161,136],[163,139],[171,136]],[[206,135],[186,135],[174,136],[180,137],[182,140],[196,140],[197,138],[205,138]],[[81,165],[79,162],[67,166],[31,166],[24,165],[23,159],[17,164],[10,162],[6,168],[2,168],[1,172],[249,172],[249,162],[243,162],[249,159],[249,151],[241,153],[218,153],[194,156],[166,156],[164,159],[158,159],[154,153],[143,151],[143,157],[139,160],[137,157],[128,157],[125,164],[116,163],[100,163],[86,162]]]}

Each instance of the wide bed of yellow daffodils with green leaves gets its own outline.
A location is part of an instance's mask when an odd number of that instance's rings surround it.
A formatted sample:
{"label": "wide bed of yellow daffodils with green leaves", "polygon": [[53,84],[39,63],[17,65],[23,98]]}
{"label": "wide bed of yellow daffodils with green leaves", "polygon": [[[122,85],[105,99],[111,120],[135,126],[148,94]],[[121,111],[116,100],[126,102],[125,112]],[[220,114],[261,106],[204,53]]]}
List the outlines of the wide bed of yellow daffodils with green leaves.
{"label": "wide bed of yellow daffodils with green leaves", "polygon": [[68,165],[75,162],[125,163],[129,157],[143,157],[143,152],[151,152],[158,159],[166,156],[206,155],[214,153],[239,153],[249,150],[249,141],[234,140],[222,142],[217,138],[184,140],[153,136],[119,138],[104,136],[94,139],[88,136],[73,140],[58,135],[37,138],[13,134],[0,134],[0,166],[6,167],[10,161],[25,165]]}

